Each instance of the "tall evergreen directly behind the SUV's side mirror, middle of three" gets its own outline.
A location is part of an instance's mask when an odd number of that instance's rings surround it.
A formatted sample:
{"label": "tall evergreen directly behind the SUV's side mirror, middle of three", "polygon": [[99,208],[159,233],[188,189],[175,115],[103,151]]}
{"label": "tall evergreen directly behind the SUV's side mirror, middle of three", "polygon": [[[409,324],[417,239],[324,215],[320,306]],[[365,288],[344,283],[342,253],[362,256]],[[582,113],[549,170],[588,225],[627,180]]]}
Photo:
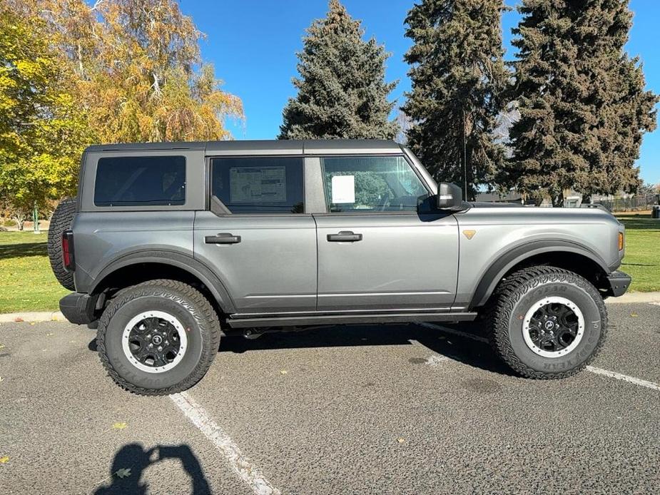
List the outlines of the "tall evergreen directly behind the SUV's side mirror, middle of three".
{"label": "tall evergreen directly behind the SUV's side mirror, middle of three", "polygon": [[[412,91],[402,107],[408,144],[437,180],[467,182],[467,197],[504,160],[494,129],[505,109],[502,0],[422,0],[408,13]],[[463,173],[463,159],[467,178]]]}

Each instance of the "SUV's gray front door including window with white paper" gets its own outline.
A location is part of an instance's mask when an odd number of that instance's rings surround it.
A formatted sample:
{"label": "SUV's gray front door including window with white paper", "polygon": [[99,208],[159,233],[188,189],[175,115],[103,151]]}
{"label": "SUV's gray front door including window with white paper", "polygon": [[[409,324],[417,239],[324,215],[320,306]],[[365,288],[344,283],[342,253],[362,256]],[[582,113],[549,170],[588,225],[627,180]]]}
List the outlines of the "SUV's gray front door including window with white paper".
{"label": "SUV's gray front door including window with white paper", "polygon": [[448,309],[455,300],[458,225],[425,205],[403,156],[320,159],[328,213],[315,214],[318,310]]}

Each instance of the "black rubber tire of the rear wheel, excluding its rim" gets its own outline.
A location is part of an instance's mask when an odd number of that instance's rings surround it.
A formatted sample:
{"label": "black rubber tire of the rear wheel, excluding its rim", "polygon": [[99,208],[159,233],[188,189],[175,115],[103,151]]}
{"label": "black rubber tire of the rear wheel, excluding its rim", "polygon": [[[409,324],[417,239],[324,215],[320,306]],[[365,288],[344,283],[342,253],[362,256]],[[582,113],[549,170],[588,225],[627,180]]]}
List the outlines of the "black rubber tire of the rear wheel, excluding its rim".
{"label": "black rubber tire of the rear wheel, excluding its rim", "polygon": [[[133,366],[121,347],[126,323],[149,310],[178,318],[188,338],[181,362],[157,374]],[[129,287],[111,301],[98,322],[96,348],[108,376],[121,388],[141,395],[168,395],[202,379],[218,352],[220,333],[218,314],[198,290],[176,280],[151,280]]]}

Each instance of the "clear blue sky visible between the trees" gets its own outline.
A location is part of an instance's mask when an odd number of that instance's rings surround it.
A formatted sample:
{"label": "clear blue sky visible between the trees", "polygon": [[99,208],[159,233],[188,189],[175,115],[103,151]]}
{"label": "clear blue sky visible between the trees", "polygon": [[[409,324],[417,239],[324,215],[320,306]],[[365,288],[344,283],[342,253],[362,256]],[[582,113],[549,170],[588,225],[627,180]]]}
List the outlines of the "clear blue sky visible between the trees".
{"label": "clear blue sky visible between the trees", "polygon": [[[387,61],[387,81],[398,80],[392,99],[403,103],[410,89],[403,54],[410,46],[403,21],[414,0],[343,0],[355,19],[362,19],[366,36],[385,44],[392,56]],[[514,0],[507,0],[514,6]],[[627,49],[644,62],[646,85],[660,93],[658,26],[660,1],[631,0],[634,26]],[[295,96],[291,78],[297,74],[295,52],[302,47],[303,31],[313,19],[325,16],[326,0],[181,0],[206,34],[202,56],[215,64],[216,75],[225,81],[225,91],[243,99],[245,123],[231,126],[237,139],[273,139],[282,122],[282,109]],[[512,59],[511,28],[518,14],[502,19],[505,57]],[[660,183],[660,131],[646,134],[637,163],[641,178]]]}

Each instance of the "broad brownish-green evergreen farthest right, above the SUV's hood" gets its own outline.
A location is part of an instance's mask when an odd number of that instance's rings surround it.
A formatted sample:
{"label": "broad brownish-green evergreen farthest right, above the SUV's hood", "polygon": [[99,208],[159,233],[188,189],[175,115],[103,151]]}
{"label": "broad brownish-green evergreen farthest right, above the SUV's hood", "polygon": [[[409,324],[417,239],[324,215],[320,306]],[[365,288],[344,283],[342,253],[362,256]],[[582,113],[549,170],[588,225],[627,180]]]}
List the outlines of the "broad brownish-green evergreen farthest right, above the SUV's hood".
{"label": "broad brownish-green evergreen farthest right, above the SUV's hood", "polygon": [[639,183],[634,161],[655,128],[656,96],[624,53],[627,0],[523,0],[509,133],[512,159],[499,181],[564,203],[564,190],[616,193]]}

